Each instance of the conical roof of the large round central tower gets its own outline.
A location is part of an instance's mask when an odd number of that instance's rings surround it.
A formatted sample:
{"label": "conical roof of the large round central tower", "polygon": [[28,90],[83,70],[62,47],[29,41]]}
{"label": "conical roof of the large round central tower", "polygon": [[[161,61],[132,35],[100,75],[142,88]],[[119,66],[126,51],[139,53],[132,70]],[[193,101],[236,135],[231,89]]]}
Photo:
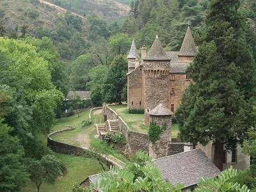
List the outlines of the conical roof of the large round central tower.
{"label": "conical roof of the large round central tower", "polygon": [[168,58],[168,56],[164,52],[158,36],[156,36],[156,39],[154,40],[154,43],[151,46],[150,51],[148,52],[148,55],[144,60],[170,60],[170,58]]}

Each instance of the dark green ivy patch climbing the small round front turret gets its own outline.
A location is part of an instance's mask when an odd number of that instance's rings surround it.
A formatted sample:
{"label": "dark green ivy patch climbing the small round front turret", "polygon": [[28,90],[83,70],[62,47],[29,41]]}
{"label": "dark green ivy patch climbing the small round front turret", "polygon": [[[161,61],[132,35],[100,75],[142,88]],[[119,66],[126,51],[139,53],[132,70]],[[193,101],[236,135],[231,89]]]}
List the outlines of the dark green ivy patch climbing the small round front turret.
{"label": "dark green ivy patch climbing the small round front turret", "polygon": [[167,128],[166,123],[164,123],[163,127],[160,127],[153,120],[150,121],[149,130],[148,130],[148,138],[152,143],[156,143],[160,138],[160,134]]}

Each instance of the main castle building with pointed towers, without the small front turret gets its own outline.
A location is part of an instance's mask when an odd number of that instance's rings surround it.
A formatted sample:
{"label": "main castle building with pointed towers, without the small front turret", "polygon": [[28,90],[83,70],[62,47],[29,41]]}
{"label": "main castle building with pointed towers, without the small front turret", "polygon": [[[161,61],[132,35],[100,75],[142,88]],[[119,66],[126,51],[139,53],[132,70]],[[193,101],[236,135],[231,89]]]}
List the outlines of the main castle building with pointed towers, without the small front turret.
{"label": "main castle building with pointed towers, without the small front turret", "polygon": [[173,113],[180,104],[182,92],[191,82],[186,68],[193,60],[196,45],[188,27],[180,51],[164,51],[158,36],[148,54],[143,45],[140,56],[132,41],[128,59],[127,107],[145,109],[145,124],[149,112],[159,103]]}

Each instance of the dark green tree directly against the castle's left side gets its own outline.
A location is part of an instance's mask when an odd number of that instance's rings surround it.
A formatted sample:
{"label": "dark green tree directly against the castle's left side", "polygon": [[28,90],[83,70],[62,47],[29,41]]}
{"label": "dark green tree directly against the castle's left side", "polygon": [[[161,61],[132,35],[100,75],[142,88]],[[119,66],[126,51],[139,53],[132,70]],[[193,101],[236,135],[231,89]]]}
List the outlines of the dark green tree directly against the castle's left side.
{"label": "dark green tree directly against the castle's left side", "polygon": [[[102,97],[104,102],[118,102],[122,104],[125,98],[122,93],[127,83],[127,60],[124,56],[118,55],[109,65],[108,76],[102,86]],[[124,95],[124,93],[123,93]]]}

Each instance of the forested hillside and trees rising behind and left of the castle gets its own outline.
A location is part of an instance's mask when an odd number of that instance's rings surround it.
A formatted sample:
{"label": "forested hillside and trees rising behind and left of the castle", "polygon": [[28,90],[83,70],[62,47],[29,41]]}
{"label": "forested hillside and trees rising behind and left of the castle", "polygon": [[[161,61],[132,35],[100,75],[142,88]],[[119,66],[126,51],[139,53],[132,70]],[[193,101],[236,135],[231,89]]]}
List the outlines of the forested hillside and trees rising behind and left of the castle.
{"label": "forested hillside and trees rising behind and left of the castle", "polygon": [[[13,182],[0,191],[19,191],[28,180],[24,157],[49,152],[37,136],[51,131],[68,90],[90,90],[93,106],[127,100],[132,39],[139,52],[156,35],[166,51],[177,51],[190,25],[200,45],[209,1],[0,1],[0,164],[6,168],[0,177]],[[243,0],[239,10],[256,59],[256,3]],[[4,159],[9,156],[13,161]]]}

